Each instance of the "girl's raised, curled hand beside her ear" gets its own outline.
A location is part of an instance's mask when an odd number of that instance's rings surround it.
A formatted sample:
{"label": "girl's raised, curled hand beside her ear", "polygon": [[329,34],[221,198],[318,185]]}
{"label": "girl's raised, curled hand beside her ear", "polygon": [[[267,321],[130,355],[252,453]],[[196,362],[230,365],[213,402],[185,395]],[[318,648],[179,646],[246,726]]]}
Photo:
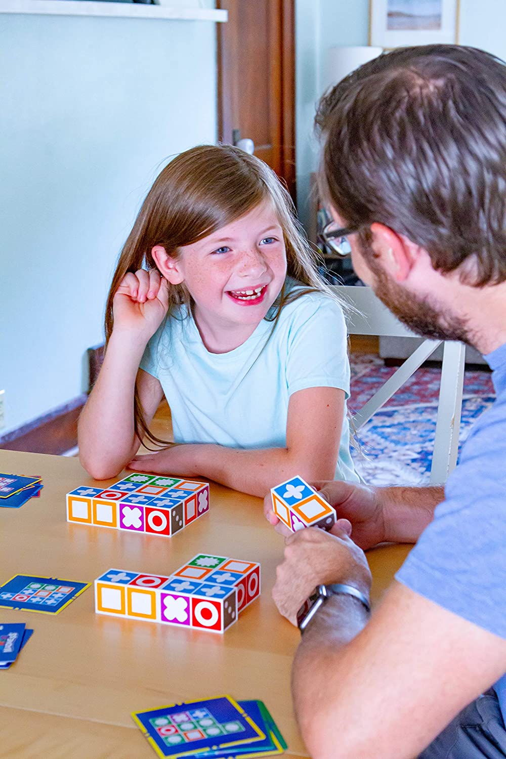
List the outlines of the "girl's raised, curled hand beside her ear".
{"label": "girl's raised, curled hand beside her ear", "polygon": [[112,301],[114,332],[140,332],[149,340],[167,313],[168,287],[158,269],[125,274]]}

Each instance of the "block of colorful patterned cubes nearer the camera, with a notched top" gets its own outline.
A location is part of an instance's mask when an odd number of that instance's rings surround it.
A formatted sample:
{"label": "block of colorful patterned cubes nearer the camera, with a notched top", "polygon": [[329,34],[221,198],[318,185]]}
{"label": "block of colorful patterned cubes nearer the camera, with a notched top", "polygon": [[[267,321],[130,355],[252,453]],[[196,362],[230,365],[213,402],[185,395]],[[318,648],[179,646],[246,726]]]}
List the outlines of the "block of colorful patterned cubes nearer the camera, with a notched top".
{"label": "block of colorful patterned cubes nearer the camera, with a notched top", "polygon": [[170,576],[109,569],[95,581],[95,610],[225,632],[259,594],[259,564],[198,554]]}

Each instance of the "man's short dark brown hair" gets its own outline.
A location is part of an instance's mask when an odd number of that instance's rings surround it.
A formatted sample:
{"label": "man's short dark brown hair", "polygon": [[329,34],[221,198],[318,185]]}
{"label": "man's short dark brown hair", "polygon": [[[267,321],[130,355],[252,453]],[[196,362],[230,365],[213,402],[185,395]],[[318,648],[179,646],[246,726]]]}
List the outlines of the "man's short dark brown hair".
{"label": "man's short dark brown hair", "polygon": [[[322,97],[320,182],[350,227],[380,222],[432,265],[506,280],[506,65],[454,45],[397,49]],[[466,262],[466,263],[464,263]]]}

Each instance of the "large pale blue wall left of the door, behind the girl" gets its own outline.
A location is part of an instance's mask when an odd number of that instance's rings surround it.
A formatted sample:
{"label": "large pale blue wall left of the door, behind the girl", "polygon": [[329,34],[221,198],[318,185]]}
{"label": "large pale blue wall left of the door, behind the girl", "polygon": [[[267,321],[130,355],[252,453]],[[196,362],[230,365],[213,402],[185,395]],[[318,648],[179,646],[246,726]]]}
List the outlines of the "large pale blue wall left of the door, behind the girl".
{"label": "large pale blue wall left of the door, behind the girl", "polygon": [[215,142],[215,24],[2,15],[0,71],[1,436],[86,389],[140,201]]}

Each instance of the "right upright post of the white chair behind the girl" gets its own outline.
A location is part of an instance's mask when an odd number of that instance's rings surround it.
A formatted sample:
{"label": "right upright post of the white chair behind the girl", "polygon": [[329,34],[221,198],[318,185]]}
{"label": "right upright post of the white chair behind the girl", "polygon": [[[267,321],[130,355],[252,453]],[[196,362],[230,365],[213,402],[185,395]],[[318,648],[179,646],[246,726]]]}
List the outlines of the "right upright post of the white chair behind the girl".
{"label": "right upright post of the white chair behind the girl", "polygon": [[430,470],[431,484],[445,483],[448,474],[457,464],[465,357],[466,347],[463,343],[445,342]]}

